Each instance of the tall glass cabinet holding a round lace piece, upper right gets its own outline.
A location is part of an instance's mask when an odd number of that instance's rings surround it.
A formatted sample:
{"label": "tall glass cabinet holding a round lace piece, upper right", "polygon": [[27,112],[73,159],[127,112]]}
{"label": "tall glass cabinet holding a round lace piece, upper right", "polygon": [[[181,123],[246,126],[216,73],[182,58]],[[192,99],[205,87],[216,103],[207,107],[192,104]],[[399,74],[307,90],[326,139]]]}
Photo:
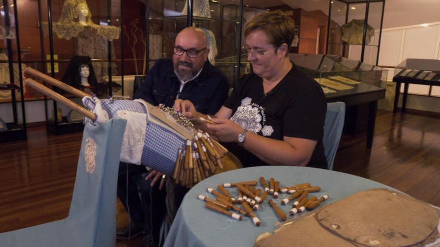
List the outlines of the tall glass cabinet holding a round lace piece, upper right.
{"label": "tall glass cabinet holding a round lace piece, upper right", "polygon": [[385,0],[329,0],[326,54],[378,62]]}

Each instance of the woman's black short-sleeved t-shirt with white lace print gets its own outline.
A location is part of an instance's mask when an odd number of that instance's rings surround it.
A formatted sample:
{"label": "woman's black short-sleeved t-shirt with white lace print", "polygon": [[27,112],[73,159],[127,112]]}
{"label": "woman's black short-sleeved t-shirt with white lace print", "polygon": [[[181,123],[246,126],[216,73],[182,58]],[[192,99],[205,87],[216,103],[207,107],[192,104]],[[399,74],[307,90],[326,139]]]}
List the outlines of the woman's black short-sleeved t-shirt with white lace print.
{"label": "woman's black short-sleeved t-shirt with white lace print", "polygon": [[[319,84],[295,65],[266,94],[261,77],[254,73],[243,76],[223,105],[232,109],[231,120],[258,135],[276,140],[286,136],[317,141],[307,166],[327,168],[322,145],[325,96]],[[267,165],[236,143],[224,145],[244,167]]]}

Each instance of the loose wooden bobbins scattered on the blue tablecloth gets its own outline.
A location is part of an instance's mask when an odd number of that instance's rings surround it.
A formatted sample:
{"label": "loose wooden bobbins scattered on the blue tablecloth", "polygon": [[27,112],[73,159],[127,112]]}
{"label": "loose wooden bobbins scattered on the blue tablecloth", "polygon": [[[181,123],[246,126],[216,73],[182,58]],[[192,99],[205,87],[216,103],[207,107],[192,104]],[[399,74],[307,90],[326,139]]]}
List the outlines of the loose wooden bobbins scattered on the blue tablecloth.
{"label": "loose wooden bobbins scattered on the blue tablecloth", "polygon": [[[290,216],[306,210],[311,211],[328,199],[326,194],[322,195],[319,199],[316,196],[308,198],[310,193],[320,192],[321,190],[319,186],[311,186],[310,183],[280,187],[279,181],[275,181],[273,178],[269,179],[268,184],[263,177],[260,177],[259,181],[264,192],[261,189],[255,188],[258,185],[257,181],[224,183],[217,186],[217,190],[210,187],[206,188],[206,191],[212,194],[215,199],[204,195],[198,195],[197,199],[204,201],[206,208],[227,215],[235,220],[241,221],[242,216],[248,216],[257,227],[261,225],[261,221],[255,213],[268,196],[277,199],[280,197],[280,194],[288,194],[289,196],[282,199],[280,204],[285,206],[293,201],[292,209],[289,211]],[[238,196],[236,198],[233,197],[225,188],[236,188]],[[241,204],[241,207],[238,207],[237,204]],[[272,199],[268,200],[268,204],[281,221],[287,219],[287,215]]]}

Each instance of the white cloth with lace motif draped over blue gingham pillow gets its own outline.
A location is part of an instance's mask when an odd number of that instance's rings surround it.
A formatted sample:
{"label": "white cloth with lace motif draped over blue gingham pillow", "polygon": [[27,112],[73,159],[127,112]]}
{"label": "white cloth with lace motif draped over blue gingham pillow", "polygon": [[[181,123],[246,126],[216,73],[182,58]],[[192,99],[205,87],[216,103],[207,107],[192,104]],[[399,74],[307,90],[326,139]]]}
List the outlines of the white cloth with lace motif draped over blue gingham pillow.
{"label": "white cloth with lace motif draped over blue gingham pillow", "polygon": [[147,117],[145,113],[117,111],[117,116],[127,120],[122,139],[120,161],[140,165],[145,145]]}

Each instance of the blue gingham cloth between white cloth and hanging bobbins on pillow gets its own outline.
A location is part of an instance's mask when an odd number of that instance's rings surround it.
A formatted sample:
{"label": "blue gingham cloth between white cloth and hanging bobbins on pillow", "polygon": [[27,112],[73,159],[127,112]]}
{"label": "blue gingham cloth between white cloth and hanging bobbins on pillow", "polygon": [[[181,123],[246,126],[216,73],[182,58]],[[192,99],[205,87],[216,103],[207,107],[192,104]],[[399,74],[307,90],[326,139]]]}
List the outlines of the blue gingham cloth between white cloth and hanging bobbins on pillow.
{"label": "blue gingham cloth between white cloth and hanging bobbins on pillow", "polygon": [[147,123],[141,163],[151,169],[172,176],[178,149],[184,147],[184,139],[165,128]]}

